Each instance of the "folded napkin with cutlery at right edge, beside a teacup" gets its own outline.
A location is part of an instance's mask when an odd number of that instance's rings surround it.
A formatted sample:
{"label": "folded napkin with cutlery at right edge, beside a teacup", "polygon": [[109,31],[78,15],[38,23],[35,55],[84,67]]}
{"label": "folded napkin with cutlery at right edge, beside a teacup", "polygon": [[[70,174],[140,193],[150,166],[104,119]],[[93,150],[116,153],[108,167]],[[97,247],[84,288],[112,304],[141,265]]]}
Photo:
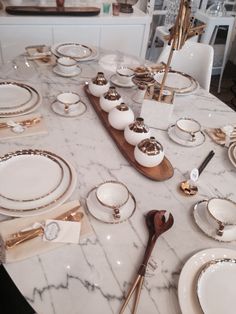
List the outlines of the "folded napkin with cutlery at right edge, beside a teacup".
{"label": "folded napkin with cutlery at right edge, beside a teacup", "polygon": [[227,125],[222,128],[206,128],[207,135],[221,146],[229,147],[236,141],[236,126]]}

